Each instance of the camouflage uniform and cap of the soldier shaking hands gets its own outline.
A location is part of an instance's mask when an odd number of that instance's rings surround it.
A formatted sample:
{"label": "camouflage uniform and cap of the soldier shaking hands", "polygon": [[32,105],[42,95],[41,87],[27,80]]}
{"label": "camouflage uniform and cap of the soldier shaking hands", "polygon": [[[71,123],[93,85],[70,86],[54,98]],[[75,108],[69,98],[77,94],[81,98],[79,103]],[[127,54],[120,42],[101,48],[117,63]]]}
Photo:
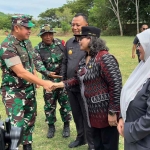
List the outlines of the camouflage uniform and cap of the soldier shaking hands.
{"label": "camouflage uniform and cap of the soldier shaking hands", "polygon": [[[14,16],[13,23],[19,20],[21,25],[32,27],[29,16]],[[25,22],[24,22],[25,21]],[[0,47],[0,61],[2,69],[2,100],[11,125],[23,127],[23,145],[32,142],[32,132],[36,118],[37,103],[35,86],[19,78],[11,67],[22,64],[33,73],[32,46],[29,40],[19,41],[13,35],[8,35]]]}

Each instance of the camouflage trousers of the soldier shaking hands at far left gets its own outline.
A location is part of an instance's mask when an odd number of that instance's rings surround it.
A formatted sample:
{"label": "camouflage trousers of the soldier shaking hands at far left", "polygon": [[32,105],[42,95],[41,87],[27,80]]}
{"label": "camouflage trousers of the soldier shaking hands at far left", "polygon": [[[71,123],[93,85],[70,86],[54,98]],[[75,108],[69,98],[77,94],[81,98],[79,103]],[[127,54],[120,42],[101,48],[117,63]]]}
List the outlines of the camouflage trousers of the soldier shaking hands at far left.
{"label": "camouflage trousers of the soldier shaking hands at far left", "polygon": [[35,97],[30,99],[20,99],[17,97],[11,99],[3,98],[3,103],[11,125],[23,127],[22,144],[32,143],[32,132],[37,115],[37,102]]}

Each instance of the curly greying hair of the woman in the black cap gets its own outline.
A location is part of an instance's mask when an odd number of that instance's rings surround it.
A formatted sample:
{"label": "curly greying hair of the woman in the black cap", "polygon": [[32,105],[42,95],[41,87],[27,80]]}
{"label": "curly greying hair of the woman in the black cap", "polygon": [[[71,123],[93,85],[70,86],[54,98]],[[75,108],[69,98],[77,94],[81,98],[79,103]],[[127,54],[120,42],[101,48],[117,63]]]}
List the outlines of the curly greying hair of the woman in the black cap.
{"label": "curly greying hair of the woman in the black cap", "polygon": [[94,36],[90,36],[89,38],[91,39],[89,43],[90,55],[96,54],[101,50],[109,50],[109,48],[106,46],[106,42],[101,38]]}

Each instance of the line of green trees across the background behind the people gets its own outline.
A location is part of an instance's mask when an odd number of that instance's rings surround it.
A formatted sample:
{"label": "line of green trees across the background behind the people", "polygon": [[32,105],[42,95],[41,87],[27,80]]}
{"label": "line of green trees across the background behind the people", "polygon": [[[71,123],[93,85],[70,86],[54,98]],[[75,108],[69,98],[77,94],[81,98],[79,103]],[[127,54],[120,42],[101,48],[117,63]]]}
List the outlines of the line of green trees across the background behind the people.
{"label": "line of green trees across the background behind the people", "polygon": [[89,24],[101,28],[106,35],[123,36],[129,32],[132,35],[135,32],[139,33],[140,24],[150,24],[150,1],[68,0],[62,7],[47,9],[40,13],[39,20],[35,22],[38,25],[49,23],[52,27],[61,27],[67,32],[76,13],[84,13],[88,17]]}

